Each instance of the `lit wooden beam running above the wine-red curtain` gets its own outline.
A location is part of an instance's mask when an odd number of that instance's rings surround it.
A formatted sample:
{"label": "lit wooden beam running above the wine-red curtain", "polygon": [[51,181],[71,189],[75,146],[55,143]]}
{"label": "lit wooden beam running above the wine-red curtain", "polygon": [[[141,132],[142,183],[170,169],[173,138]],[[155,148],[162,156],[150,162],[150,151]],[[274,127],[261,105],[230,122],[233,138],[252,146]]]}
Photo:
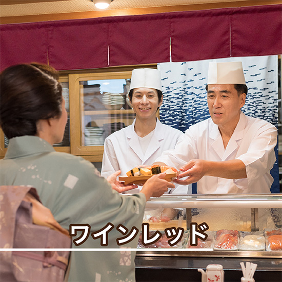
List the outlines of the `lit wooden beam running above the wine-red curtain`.
{"label": "lit wooden beam running above the wine-red curtain", "polygon": [[150,7],[150,8],[131,8],[131,9],[118,9],[118,10],[92,11],[92,12],[9,16],[9,17],[0,17],[0,24],[60,21],[66,19],[96,18],[96,17],[106,17],[106,16],[143,15],[143,14],[155,14],[155,13],[177,12],[177,11],[194,11],[194,10],[207,10],[207,9],[230,8],[230,7],[274,5],[281,3],[282,3],[281,0],[248,0],[248,1],[236,1],[236,2],[190,4],[190,5],[163,6],[163,7]]}

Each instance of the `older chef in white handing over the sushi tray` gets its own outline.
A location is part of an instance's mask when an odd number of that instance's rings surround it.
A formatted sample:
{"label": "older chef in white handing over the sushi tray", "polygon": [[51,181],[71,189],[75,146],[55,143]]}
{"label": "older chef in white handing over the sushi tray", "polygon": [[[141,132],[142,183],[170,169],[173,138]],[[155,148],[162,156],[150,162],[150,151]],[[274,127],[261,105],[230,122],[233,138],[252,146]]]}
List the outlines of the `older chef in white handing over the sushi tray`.
{"label": "older chef in white handing over the sushi tray", "polygon": [[197,182],[198,193],[270,193],[277,130],[241,111],[248,90],[242,63],[210,63],[206,89],[211,117],[156,163],[180,169],[175,183]]}

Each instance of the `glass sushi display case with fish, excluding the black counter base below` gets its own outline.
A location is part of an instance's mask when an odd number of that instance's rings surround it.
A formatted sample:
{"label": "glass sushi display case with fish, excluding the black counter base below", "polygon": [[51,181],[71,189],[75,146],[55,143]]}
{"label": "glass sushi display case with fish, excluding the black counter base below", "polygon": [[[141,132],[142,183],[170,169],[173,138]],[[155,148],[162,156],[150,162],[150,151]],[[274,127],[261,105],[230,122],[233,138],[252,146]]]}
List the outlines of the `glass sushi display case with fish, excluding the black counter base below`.
{"label": "glass sushi display case with fish, excluding the black counter base below", "polygon": [[[281,194],[165,194],[148,200],[144,224],[150,237],[156,231],[162,236],[145,246],[141,234],[137,255],[282,256]],[[177,235],[181,239],[171,246]]]}

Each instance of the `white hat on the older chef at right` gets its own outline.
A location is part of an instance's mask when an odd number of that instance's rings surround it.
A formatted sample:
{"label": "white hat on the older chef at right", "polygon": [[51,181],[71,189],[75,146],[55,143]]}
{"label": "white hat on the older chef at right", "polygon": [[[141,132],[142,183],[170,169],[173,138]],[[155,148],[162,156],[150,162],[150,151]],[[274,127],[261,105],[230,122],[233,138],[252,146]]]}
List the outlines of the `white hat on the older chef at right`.
{"label": "white hat on the older chef at right", "polygon": [[242,62],[209,64],[208,84],[245,84]]}

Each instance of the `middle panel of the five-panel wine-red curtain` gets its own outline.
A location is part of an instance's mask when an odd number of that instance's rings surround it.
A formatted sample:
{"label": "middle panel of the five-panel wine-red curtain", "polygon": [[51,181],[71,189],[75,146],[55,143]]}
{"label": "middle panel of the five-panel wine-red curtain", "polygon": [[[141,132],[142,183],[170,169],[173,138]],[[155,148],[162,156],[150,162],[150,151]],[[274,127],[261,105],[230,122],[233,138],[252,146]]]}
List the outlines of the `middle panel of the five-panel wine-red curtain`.
{"label": "middle panel of the five-panel wine-red curtain", "polygon": [[164,14],[116,17],[109,24],[110,66],[169,62]]}

